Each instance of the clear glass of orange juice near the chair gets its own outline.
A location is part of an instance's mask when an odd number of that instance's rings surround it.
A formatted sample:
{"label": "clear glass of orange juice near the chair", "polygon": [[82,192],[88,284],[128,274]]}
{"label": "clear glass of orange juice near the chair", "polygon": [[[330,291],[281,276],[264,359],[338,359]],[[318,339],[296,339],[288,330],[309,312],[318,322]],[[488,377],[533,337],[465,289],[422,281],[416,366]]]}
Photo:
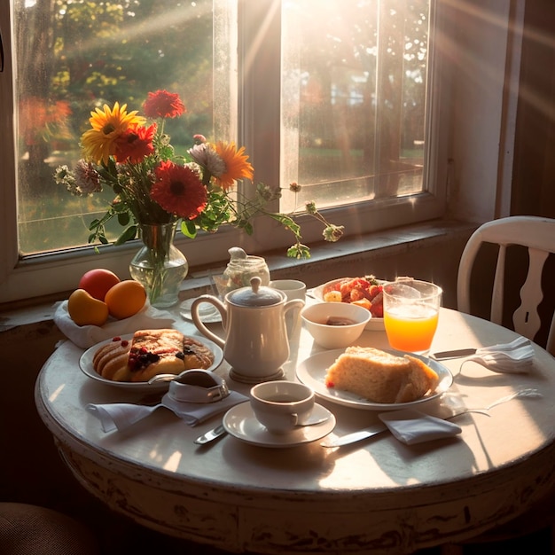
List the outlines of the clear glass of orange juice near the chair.
{"label": "clear glass of orange juice near the chair", "polygon": [[412,278],[383,286],[384,324],[391,348],[426,354],[437,329],[442,288]]}

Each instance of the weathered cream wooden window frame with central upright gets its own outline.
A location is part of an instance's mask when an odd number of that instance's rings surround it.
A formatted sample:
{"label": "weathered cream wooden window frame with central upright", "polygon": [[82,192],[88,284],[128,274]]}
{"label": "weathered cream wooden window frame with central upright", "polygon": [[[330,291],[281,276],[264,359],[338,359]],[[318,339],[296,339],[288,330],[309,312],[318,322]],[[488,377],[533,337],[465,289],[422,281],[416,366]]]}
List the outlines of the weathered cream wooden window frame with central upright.
{"label": "weathered cream wooden window frame with central upright", "polygon": [[[248,5],[247,5],[248,4]],[[277,51],[271,45],[278,43],[278,26],[269,26],[267,18],[279,17],[278,0],[238,0],[238,53],[239,59],[252,64],[247,71],[245,63],[239,64],[238,82],[238,143],[246,146],[255,168],[255,179],[264,183],[279,183],[279,72],[273,79],[264,71],[279,64]],[[442,12],[445,0],[437,0],[434,26],[442,28]],[[0,74],[0,125],[3,129],[3,148],[0,149],[0,167],[3,168],[0,190],[0,232],[4,241],[0,246],[0,302],[18,301],[33,297],[64,293],[74,289],[75,283],[86,270],[97,267],[109,268],[121,276],[129,274],[129,260],[137,251],[138,243],[123,246],[106,246],[95,253],[92,247],[72,251],[37,255],[19,260],[17,248],[17,194],[14,140],[14,93],[12,83],[13,29],[12,1],[0,3],[0,28],[4,44],[4,72]],[[260,33],[267,33],[261,39]],[[439,35],[435,33],[435,35]],[[247,45],[256,41],[263,48],[254,58],[247,54]],[[432,49],[434,51],[435,49]],[[269,59],[272,60],[269,63]],[[429,59],[432,104],[426,115],[434,122],[434,143],[428,148],[434,152],[428,157],[425,180],[427,191],[418,195],[372,201],[326,211],[333,223],[345,225],[346,236],[363,236],[371,231],[409,223],[423,222],[445,215],[448,176],[449,129],[449,66],[439,51]],[[268,137],[272,137],[271,140]],[[276,138],[277,137],[277,138]],[[285,186],[284,184],[281,185]],[[314,245],[322,240],[322,228],[318,223],[301,216],[303,242]],[[195,266],[221,263],[227,260],[230,246],[240,245],[250,253],[276,252],[291,245],[292,238],[268,218],[254,223],[255,234],[246,236],[234,229],[221,229],[215,235],[202,235],[191,241],[178,238],[176,245],[183,250]]]}

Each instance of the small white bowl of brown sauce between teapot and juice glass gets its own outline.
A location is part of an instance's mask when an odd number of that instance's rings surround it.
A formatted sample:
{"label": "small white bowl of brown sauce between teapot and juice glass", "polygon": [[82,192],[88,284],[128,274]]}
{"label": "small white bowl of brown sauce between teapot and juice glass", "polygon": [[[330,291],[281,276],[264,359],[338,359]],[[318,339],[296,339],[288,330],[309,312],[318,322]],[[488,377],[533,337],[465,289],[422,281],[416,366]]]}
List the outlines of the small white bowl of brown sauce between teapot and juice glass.
{"label": "small white bowl of brown sauce between teapot and juice glass", "polygon": [[[354,324],[326,324],[330,318],[347,319]],[[301,310],[301,319],[320,347],[344,348],[361,336],[371,313],[348,302],[317,302]]]}

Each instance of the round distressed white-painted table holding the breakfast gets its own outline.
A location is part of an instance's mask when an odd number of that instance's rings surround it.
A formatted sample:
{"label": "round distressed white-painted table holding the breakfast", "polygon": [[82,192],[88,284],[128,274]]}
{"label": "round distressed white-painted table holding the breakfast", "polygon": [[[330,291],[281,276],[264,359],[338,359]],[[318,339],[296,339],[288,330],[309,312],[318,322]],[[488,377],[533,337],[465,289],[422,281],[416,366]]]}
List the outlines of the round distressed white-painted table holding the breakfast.
{"label": "round distressed white-painted table holding the breakfast", "polygon": [[[219,324],[215,324],[216,326]],[[191,334],[195,331],[191,324]],[[515,334],[442,309],[434,350],[481,347]],[[384,332],[364,346],[387,348]],[[318,352],[298,326],[286,363]],[[98,383],[79,370],[82,350],[66,341],[40,373],[35,400],[74,476],[113,510],[146,527],[228,551],[259,553],[409,553],[462,540],[523,512],[555,484],[555,360],[535,348],[527,375],[465,365],[441,402],[483,407],[523,387],[539,399],[514,399],[491,416],[457,418],[457,439],[409,447],[390,434],[340,449],[319,442],[267,449],[232,436],[193,444],[219,418],[190,427],[169,412],[105,434],[86,403],[133,402],[137,394]],[[456,373],[460,361],[445,363]],[[217,370],[228,378],[226,363]],[[228,379],[231,388],[248,386]],[[319,401],[345,434],[377,421],[371,410]]]}

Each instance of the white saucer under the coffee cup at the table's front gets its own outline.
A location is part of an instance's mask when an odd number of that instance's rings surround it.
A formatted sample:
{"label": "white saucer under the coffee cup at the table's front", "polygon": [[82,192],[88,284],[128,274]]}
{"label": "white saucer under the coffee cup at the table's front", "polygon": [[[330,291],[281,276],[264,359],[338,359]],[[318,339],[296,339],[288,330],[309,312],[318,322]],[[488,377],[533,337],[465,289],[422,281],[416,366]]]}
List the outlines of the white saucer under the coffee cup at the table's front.
{"label": "white saucer under the coffee cup at the table's front", "polygon": [[332,432],[335,417],[320,404],[314,405],[312,412],[316,418],[328,417],[322,424],[301,426],[290,434],[270,434],[254,416],[251,403],[241,403],[228,410],[223,417],[223,427],[228,434],[242,442],[262,447],[293,447],[301,443],[316,442]]}

